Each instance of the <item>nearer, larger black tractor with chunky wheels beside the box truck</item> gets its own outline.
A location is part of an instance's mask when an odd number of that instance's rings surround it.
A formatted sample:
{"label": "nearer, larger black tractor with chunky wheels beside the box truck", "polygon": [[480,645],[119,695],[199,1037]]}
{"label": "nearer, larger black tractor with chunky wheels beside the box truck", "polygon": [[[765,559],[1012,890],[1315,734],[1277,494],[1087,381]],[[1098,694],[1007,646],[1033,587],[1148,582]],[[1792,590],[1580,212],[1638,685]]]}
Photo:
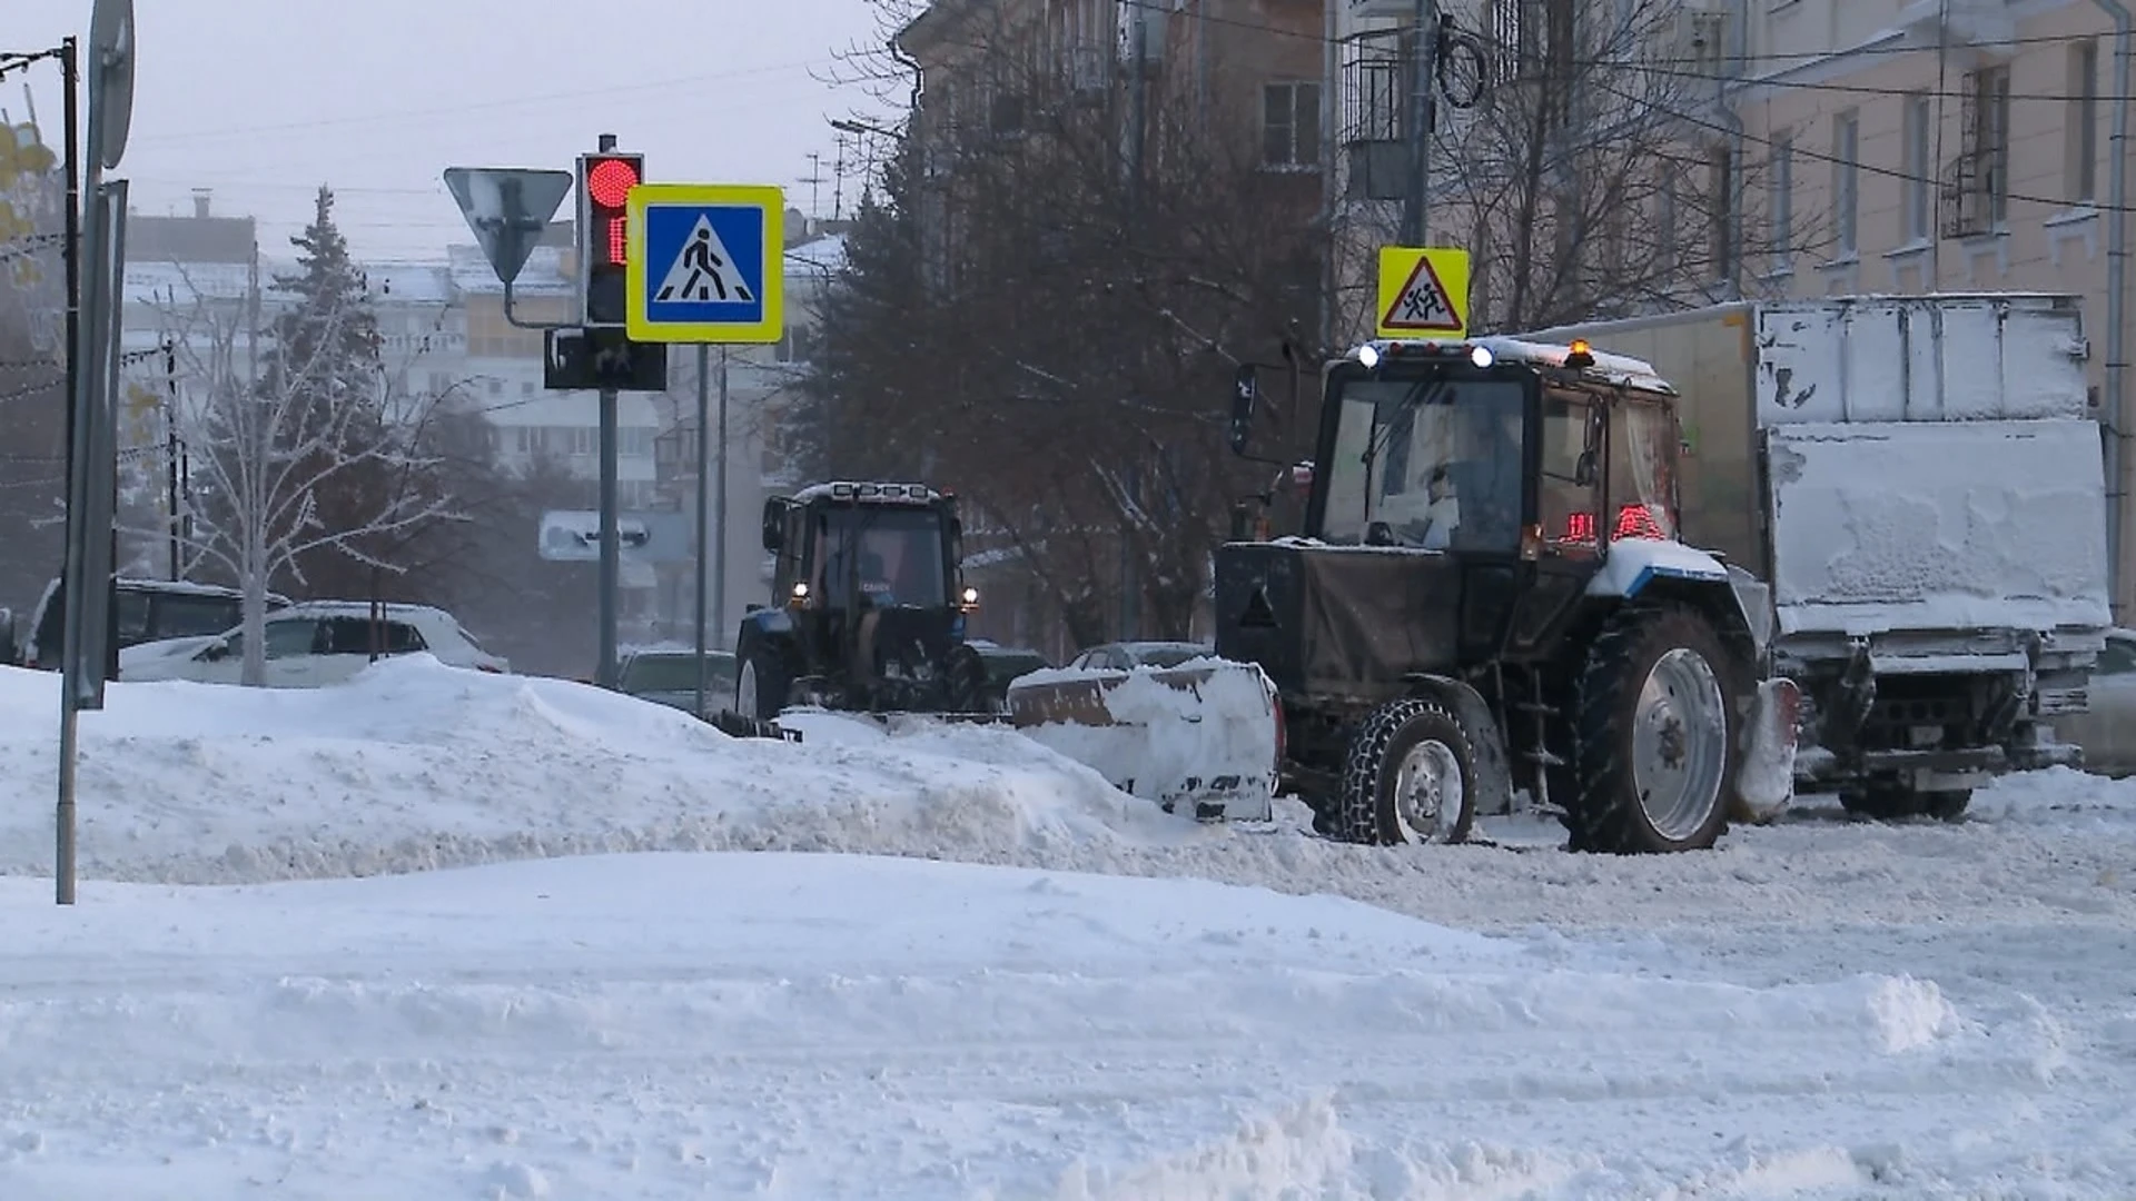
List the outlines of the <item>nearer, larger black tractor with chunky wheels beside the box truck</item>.
{"label": "nearer, larger black tractor with chunky wheels beside the box truck", "polygon": [[[1322,833],[1459,842],[1527,789],[1574,851],[1690,851],[1786,804],[1799,697],[1760,684],[1766,586],[1677,541],[1675,395],[1585,342],[1326,365],[1303,528],[1241,509],[1215,556],[1218,654],[1275,682]],[[1241,455],[1256,404],[1243,368]]]}

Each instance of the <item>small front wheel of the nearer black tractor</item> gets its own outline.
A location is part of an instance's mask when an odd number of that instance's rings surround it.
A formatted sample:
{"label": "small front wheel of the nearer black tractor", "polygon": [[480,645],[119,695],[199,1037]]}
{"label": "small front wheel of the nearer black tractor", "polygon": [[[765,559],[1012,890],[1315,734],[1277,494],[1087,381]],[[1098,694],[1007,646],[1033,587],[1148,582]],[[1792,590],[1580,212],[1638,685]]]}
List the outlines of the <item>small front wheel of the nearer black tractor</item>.
{"label": "small front wheel of the nearer black tractor", "polygon": [[1335,793],[1344,842],[1465,842],[1476,825],[1476,748],[1435,701],[1373,709],[1344,754]]}

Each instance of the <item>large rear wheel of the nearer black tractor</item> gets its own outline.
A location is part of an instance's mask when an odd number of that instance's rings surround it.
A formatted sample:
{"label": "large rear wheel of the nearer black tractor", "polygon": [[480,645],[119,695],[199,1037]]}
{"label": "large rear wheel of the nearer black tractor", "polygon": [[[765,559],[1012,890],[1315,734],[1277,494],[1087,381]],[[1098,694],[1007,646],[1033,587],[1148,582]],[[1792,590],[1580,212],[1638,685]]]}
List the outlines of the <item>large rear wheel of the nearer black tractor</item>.
{"label": "large rear wheel of the nearer black tractor", "polygon": [[1572,848],[1713,846],[1728,829],[1749,692],[1749,667],[1696,609],[1634,603],[1611,618],[1572,707]]}

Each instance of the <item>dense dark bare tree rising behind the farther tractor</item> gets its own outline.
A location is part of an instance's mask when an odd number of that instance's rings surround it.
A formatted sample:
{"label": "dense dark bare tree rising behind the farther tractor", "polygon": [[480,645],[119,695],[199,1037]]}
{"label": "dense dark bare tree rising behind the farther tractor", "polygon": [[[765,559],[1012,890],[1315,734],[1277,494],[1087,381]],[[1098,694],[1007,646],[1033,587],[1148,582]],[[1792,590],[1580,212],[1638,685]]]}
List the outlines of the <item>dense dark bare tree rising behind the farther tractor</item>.
{"label": "dense dark bare tree rising behind the farther tractor", "polygon": [[848,235],[818,462],[955,485],[1077,641],[1124,594],[1185,637],[1241,492],[1228,378],[1318,306],[1316,162],[1267,169],[1258,81],[1218,71],[1205,103],[1156,77],[1136,105],[1111,38],[1091,71],[993,6],[965,21]]}

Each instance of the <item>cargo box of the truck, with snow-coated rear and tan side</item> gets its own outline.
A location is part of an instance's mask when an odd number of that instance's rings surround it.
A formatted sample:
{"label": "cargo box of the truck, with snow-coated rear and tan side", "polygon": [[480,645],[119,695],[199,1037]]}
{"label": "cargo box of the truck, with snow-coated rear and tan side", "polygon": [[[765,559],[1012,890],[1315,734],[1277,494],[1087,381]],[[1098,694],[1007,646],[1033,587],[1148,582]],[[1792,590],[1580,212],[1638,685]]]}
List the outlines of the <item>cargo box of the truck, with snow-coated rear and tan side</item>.
{"label": "cargo box of the truck, with snow-coated rear and tan side", "polygon": [[1781,635],[2110,624],[2074,297],[1739,301],[1536,338],[1677,385],[1683,539],[1769,579]]}

